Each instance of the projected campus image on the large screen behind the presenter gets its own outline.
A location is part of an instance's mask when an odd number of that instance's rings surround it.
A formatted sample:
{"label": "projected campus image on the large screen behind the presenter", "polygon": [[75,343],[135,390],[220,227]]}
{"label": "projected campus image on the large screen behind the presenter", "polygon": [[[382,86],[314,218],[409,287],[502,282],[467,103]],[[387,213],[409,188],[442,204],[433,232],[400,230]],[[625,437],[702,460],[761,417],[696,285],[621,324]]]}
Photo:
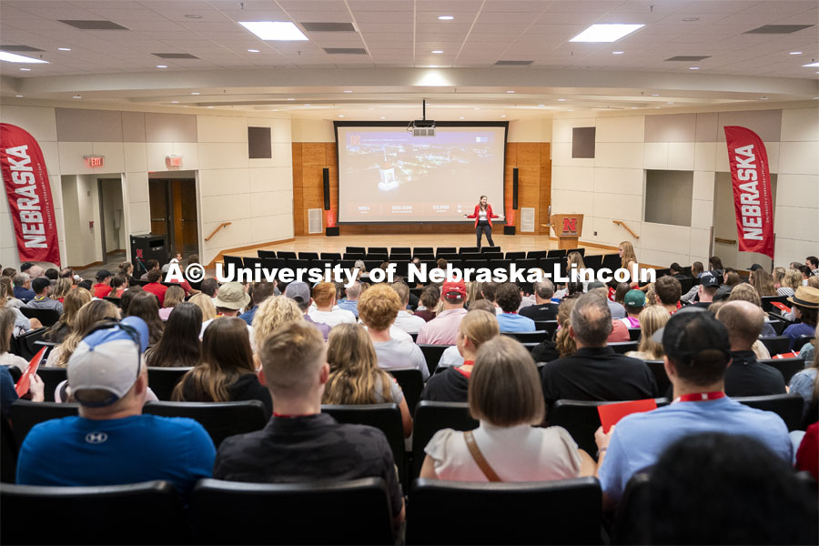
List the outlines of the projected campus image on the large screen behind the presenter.
{"label": "projected campus image on the large screen behind the presenter", "polygon": [[466,222],[481,195],[503,210],[504,126],[339,126],[340,222]]}

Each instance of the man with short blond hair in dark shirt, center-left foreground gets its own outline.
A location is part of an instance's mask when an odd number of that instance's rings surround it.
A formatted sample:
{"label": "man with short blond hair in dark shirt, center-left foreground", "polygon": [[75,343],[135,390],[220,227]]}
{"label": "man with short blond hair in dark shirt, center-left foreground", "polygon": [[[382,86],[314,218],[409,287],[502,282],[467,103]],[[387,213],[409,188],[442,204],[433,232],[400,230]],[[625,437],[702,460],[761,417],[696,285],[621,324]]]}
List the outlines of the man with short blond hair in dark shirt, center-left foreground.
{"label": "man with short blond hair in dark shirt, center-left foreground", "polygon": [[339,424],[321,413],[329,365],[319,330],[304,321],[280,327],[259,348],[259,358],[258,380],[270,390],[276,411],[264,429],[222,442],[214,478],[268,483],[383,478],[398,526],[404,500],[384,433]]}

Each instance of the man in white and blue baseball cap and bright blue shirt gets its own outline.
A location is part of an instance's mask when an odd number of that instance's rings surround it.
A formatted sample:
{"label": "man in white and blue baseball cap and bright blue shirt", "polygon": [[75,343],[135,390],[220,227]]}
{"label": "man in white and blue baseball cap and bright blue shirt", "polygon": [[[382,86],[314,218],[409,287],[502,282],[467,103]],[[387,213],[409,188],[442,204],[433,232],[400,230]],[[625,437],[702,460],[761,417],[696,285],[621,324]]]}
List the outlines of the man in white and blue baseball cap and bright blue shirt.
{"label": "man in white and blue baseball cap and bright blue shirt", "polygon": [[36,425],[25,437],[17,483],[114,485],[167,480],[186,495],[212,475],[216,449],[194,420],[142,415],[147,325],[128,317],[96,325],[68,360],[79,416]]}

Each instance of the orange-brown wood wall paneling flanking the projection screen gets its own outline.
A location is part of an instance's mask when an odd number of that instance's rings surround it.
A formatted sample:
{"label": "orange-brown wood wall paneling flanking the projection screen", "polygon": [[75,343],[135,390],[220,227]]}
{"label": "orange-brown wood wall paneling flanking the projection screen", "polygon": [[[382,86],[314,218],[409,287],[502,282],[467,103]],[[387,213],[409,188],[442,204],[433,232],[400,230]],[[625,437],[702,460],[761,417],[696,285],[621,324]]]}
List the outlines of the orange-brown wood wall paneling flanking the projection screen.
{"label": "orange-brown wood wall paneling flanking the projection screen", "polygon": [[[293,224],[295,235],[308,234],[308,208],[324,207],[322,169],[329,168],[330,209],[339,217],[339,160],[334,142],[293,143]],[[548,142],[511,142],[506,145],[503,195],[508,207],[512,201],[512,169],[518,171],[518,207],[535,208],[535,233],[548,234],[546,211],[551,205],[551,144]],[[495,205],[498,214],[502,204]],[[515,225],[521,230],[520,210]],[[325,219],[326,221],[326,219]],[[368,224],[341,226],[342,235],[473,233],[471,224]],[[502,222],[495,232],[502,232]]]}

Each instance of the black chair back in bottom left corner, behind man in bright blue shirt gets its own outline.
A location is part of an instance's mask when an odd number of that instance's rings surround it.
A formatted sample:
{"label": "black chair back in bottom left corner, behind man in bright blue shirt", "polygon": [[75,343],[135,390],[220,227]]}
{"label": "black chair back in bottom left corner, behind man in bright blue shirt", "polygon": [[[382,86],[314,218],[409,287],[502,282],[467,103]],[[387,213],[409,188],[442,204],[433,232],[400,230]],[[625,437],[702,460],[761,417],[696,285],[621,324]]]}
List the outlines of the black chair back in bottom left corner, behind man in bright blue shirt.
{"label": "black chair back in bottom left corner, behind man in bright blue shirt", "polygon": [[[189,537],[177,490],[167,481],[88,487],[8,483],[0,489],[0,502],[4,544],[185,544]],[[45,514],[47,524],[24,523]],[[136,524],[125,528],[126,521]]]}

